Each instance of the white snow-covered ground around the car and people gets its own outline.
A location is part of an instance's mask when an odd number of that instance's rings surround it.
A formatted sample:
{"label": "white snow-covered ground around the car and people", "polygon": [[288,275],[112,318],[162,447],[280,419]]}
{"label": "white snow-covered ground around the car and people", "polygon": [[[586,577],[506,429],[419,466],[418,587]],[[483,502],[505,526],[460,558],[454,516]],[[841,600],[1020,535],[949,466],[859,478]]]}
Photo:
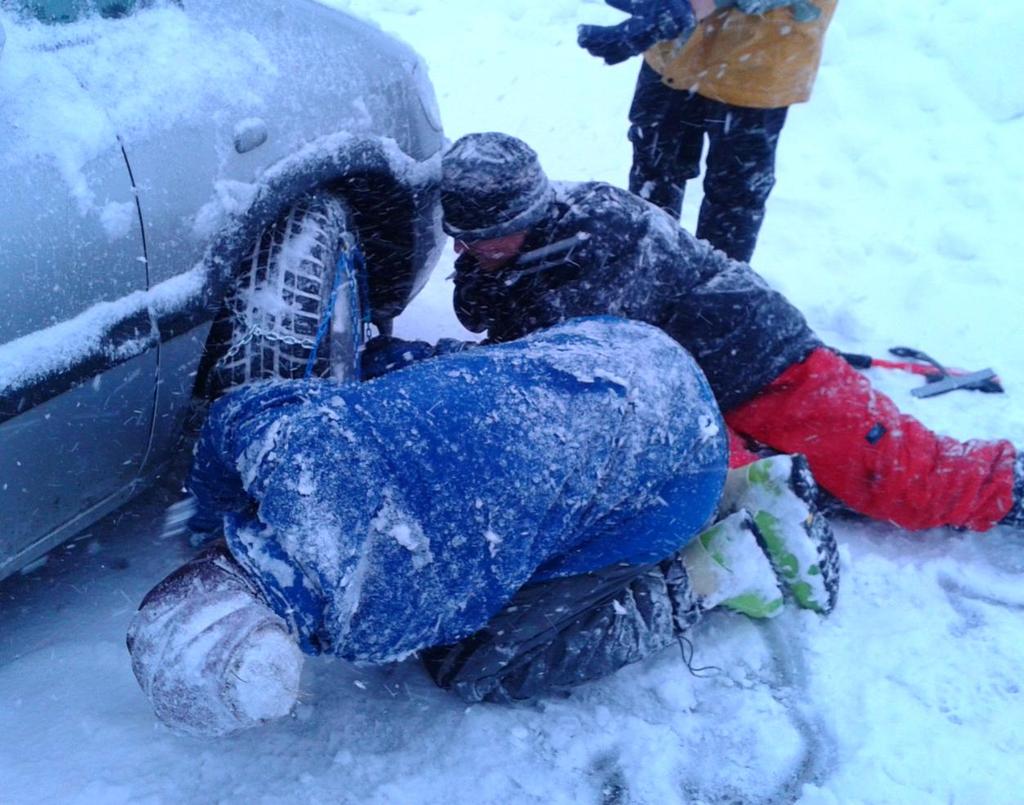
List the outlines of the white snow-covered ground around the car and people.
{"label": "white snow-covered ground around the car and people", "polygon": [[[558,178],[625,181],[637,60],[606,68],[575,0],[333,0],[427,59],[451,137],[520,135]],[[920,401],[931,426],[1024,444],[1024,23],[1009,0],[840,4],[811,103],[794,109],[756,265],[838,346],[908,343],[992,366],[1009,389]],[[687,199],[692,225],[699,194]],[[451,253],[399,334],[460,335]],[[186,549],[171,493],[0,586],[0,801],[1024,801],[1024,538],[838,525],[822,620],[710,618],[695,678],[667,650],[566,700],[466,708],[415,663],[310,662],[295,717],[176,737],[135,685],[124,631]]]}

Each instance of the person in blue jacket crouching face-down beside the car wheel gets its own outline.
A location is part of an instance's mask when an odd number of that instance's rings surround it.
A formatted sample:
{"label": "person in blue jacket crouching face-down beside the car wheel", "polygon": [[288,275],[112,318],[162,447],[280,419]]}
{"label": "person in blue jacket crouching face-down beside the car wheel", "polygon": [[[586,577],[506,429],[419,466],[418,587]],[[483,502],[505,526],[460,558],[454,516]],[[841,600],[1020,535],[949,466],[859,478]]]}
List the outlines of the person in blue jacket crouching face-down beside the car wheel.
{"label": "person in blue jacket crouching face-down beside the car wheel", "polygon": [[291,710],[300,648],[427,649],[442,687],[509,701],[637,662],[717,605],[777,613],[771,562],[799,562],[783,585],[830,609],[835,542],[802,499],[732,477],[702,531],[726,458],[693,359],[611,317],[367,383],[239,389],[188,484],[194,525],[223,540],[145,597],[132,668],[164,722],[224,734]]}

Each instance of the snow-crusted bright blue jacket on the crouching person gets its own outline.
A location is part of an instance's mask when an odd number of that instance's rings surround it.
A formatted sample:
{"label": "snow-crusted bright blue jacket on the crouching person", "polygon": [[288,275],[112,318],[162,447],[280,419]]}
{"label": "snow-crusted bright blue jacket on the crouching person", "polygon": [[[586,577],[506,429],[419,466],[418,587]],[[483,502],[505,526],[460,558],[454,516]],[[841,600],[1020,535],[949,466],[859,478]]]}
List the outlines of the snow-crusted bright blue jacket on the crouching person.
{"label": "snow-crusted bright blue jacket on the crouching person", "polygon": [[243,388],[189,488],[306,651],[385,662],[481,628],[527,581],[658,561],[714,514],[714,396],[606,317],[367,383]]}

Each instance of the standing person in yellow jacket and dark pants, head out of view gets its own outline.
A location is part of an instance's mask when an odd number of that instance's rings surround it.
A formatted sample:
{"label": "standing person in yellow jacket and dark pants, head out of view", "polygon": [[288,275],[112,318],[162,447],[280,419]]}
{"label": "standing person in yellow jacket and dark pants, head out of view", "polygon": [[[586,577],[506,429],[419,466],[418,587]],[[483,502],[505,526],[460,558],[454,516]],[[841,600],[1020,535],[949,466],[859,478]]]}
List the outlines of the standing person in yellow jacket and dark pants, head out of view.
{"label": "standing person in yellow jacket and dark pants, head out of view", "polygon": [[[696,237],[750,262],[775,184],[779,134],[788,108],[810,98],[836,3],[693,0],[695,29],[644,52],[629,115],[630,189],[678,219],[707,136]],[[581,44],[607,60],[593,27],[584,29]]]}

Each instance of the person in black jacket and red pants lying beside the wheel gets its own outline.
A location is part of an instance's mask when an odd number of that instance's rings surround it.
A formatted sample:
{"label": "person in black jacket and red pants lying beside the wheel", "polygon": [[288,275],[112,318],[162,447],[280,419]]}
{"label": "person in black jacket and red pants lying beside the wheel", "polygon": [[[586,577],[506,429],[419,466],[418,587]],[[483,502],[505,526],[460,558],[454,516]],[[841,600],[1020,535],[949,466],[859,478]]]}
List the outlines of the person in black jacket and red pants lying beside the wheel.
{"label": "person in black jacket and red pants lying beside the wheel", "polygon": [[1024,527],[1024,457],[1012,443],[958,441],[902,414],[746,263],[636,195],[556,188],[526,143],[490,132],[445,153],[441,204],[469,330],[502,342],[580,315],[647,322],[708,376],[737,434],[733,465],[751,439],[806,456],[846,507],[904,528]]}

